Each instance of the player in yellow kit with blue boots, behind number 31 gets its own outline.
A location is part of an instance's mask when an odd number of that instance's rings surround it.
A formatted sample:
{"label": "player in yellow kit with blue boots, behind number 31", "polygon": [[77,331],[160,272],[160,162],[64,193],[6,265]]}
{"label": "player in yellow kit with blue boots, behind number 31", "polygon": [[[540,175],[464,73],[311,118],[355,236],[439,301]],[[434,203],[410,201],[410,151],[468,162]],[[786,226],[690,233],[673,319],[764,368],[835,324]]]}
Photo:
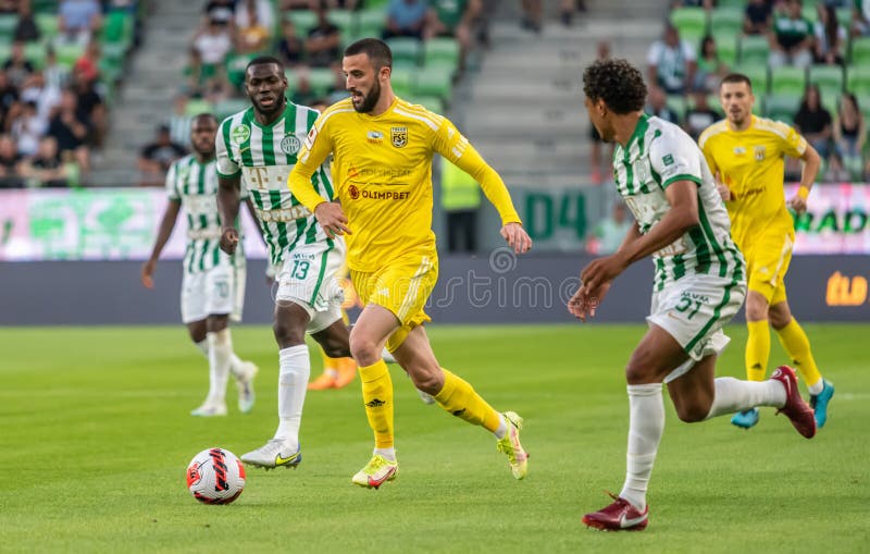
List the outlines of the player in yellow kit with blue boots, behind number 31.
{"label": "player in yellow kit with blue boots, behind number 31", "polygon": [[[731,217],[731,234],[748,266],[746,374],[751,381],[765,378],[770,357],[769,322],[804,376],[816,424],[822,427],[834,387],[816,367],[809,340],[792,317],[783,282],[795,238],[787,207],[798,213],[806,210],[820,158],[794,128],[753,115],[753,85],[745,75],[722,79],[720,100],[726,119],[709,126],[698,144],[719,180],[719,192]],[[783,189],[785,156],[804,161],[800,187],[787,204]],[[749,429],[758,422],[758,410],[736,414],[731,422]]]}

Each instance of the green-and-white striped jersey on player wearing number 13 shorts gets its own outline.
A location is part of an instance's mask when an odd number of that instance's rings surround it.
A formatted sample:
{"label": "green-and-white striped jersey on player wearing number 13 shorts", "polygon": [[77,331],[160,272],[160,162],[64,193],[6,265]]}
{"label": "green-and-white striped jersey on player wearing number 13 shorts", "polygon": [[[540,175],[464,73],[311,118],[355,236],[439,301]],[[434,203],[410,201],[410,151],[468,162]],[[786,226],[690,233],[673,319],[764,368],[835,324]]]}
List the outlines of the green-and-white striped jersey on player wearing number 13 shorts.
{"label": "green-and-white striped jersey on player wearing number 13 shorts", "polygon": [[[241,174],[273,264],[284,261],[297,245],[327,242],[314,216],[287,186],[296,156],[319,114],[288,100],[284,114],[271,125],[259,124],[253,108],[248,108],[225,119],[217,131],[217,174]],[[324,199],[334,198],[328,165],[314,172],[311,182]]]}

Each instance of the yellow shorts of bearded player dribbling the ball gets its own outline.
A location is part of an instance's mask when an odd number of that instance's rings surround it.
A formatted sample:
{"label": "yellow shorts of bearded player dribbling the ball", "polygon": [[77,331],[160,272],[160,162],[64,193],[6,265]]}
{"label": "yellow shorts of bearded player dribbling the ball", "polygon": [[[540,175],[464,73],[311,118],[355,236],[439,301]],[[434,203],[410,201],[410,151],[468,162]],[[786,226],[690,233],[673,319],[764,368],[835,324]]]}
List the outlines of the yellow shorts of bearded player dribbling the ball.
{"label": "yellow shorts of bearded player dribbling the ball", "polygon": [[423,308],[438,280],[438,259],[411,255],[377,271],[350,270],[350,280],[362,306],[376,304],[388,309],[401,327],[387,338],[387,350],[395,352],[413,328],[432,321]]}

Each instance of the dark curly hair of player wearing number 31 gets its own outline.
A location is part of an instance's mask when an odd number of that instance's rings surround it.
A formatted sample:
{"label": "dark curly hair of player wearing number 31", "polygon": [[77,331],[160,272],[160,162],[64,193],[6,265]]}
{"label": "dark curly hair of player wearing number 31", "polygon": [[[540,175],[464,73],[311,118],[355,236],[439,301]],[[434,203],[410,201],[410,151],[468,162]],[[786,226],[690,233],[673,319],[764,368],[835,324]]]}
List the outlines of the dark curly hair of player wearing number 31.
{"label": "dark curly hair of player wearing number 31", "polygon": [[644,109],[644,76],[626,60],[596,60],[583,72],[583,93],[591,101],[604,100],[614,113],[624,114]]}

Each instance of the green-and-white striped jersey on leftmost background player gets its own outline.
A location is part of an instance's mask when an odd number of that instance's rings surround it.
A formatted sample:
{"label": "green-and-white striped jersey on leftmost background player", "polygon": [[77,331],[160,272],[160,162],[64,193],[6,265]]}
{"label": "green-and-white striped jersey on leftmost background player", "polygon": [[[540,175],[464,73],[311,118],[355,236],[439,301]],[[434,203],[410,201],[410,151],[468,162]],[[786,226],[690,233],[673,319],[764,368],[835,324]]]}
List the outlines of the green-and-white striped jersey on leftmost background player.
{"label": "green-and-white striped jersey on leftmost background player", "polygon": [[[228,256],[221,250],[221,219],[217,213],[217,169],[215,160],[200,163],[187,155],[170,165],[166,194],[182,202],[187,216],[187,249],[184,269],[188,273],[208,271],[217,266],[244,266],[245,254]],[[243,199],[248,197],[243,189]]]}

